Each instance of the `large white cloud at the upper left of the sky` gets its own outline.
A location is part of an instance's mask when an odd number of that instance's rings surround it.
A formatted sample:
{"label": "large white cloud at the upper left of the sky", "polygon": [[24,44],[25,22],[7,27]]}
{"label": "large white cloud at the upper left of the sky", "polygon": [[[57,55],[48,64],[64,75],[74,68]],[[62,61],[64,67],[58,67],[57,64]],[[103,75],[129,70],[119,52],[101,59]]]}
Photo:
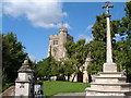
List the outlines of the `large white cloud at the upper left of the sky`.
{"label": "large white cloud at the upper left of the sky", "polygon": [[[57,0],[60,1],[60,0]],[[3,4],[3,13],[12,17],[25,16],[35,27],[59,28],[63,17],[68,15],[62,11],[62,3],[56,0],[8,0]],[[70,27],[68,23],[63,27]]]}

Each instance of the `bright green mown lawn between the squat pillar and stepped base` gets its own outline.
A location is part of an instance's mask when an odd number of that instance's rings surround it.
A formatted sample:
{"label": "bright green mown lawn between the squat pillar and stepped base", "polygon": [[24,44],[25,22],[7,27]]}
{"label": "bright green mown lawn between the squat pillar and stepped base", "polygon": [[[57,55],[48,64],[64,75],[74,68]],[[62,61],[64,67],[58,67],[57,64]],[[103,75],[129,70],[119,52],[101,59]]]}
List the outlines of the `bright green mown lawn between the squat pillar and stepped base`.
{"label": "bright green mown lawn between the squat pillar and stepped base", "polygon": [[[87,84],[90,86],[90,84]],[[82,93],[85,91],[85,83],[72,83],[72,82],[53,82],[46,81],[43,85],[44,94],[46,96],[53,96],[59,93]]]}

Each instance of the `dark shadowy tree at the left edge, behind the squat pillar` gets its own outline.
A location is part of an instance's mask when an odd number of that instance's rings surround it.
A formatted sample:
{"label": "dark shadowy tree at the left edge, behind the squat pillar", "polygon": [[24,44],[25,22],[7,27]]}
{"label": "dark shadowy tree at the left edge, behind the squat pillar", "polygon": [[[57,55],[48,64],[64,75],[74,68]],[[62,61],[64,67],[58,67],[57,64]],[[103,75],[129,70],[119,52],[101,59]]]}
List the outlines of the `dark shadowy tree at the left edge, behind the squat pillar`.
{"label": "dark shadowy tree at the left edge, behind the squat pillar", "polygon": [[5,82],[14,82],[17,70],[27,58],[24,46],[13,33],[2,35],[2,71]]}

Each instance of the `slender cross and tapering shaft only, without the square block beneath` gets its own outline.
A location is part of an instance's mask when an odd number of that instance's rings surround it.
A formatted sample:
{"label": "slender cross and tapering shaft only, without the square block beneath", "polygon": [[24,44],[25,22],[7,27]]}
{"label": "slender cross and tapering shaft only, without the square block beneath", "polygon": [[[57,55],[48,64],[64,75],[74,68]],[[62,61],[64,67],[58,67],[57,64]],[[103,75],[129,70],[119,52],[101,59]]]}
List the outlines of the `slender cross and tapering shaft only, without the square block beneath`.
{"label": "slender cross and tapering shaft only, without the square block beneath", "polygon": [[110,36],[110,14],[109,8],[114,8],[114,5],[109,5],[109,1],[105,2],[106,5],[102,5],[102,8],[106,8],[107,11],[107,58],[106,62],[112,63],[112,51],[111,51],[111,36]]}

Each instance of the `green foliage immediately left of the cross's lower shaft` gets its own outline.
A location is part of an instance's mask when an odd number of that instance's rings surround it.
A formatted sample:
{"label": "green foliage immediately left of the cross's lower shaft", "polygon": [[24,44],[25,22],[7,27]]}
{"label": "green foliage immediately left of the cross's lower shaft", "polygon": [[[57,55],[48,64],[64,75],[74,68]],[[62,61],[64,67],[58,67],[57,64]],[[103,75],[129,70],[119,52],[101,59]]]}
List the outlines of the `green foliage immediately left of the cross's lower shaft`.
{"label": "green foliage immediately left of the cross's lower shaft", "polygon": [[106,42],[93,40],[87,45],[91,62],[87,66],[88,74],[102,72],[103,64],[106,61]]}

